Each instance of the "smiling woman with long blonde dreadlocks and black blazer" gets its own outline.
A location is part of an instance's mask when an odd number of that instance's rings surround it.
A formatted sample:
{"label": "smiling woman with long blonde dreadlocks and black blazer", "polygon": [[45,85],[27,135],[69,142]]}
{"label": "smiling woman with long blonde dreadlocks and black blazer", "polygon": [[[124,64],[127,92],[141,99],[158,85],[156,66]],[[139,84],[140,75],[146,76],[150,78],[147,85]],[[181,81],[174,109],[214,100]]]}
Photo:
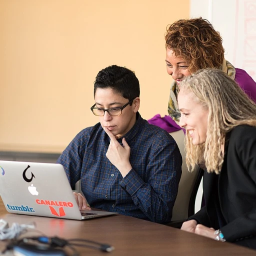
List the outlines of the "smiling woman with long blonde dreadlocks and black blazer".
{"label": "smiling woman with long blonde dreadlocks and black blazer", "polygon": [[205,161],[205,206],[182,230],[256,249],[256,104],[220,69],[180,83],[189,170]]}

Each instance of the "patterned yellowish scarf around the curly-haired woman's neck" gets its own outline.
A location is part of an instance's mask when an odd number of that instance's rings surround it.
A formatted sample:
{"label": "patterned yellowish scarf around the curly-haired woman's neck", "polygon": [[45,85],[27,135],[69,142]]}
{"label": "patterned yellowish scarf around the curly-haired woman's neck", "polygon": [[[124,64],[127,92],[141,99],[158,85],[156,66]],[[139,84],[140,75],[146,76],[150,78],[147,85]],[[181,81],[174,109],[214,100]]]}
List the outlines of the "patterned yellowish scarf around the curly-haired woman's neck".
{"label": "patterned yellowish scarf around the curly-haired woman's neck", "polygon": [[[235,69],[234,66],[228,62],[226,59],[223,59],[223,63],[221,66],[221,69],[223,72],[225,72],[229,77],[234,79],[235,76]],[[169,96],[169,103],[168,103],[168,113],[169,116],[174,121],[179,121],[180,112],[178,109],[178,103],[177,103],[177,95],[178,95],[178,86],[175,81],[171,83],[170,86],[170,96]]]}

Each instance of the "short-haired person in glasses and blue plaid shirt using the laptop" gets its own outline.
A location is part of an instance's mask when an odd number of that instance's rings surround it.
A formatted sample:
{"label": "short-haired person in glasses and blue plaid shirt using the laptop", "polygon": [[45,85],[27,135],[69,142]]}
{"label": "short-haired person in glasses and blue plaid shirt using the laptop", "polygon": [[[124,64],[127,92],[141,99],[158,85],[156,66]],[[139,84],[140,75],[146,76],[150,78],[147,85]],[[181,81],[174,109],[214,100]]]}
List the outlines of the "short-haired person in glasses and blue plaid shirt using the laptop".
{"label": "short-haired person in glasses and blue plaid shirt using the laptop", "polygon": [[[80,131],[58,158],[73,186],[80,209],[91,207],[146,219],[171,220],[181,175],[174,139],[138,113],[139,82],[116,65],[98,72],[95,103],[99,122]],[[86,199],[85,199],[86,198]]]}

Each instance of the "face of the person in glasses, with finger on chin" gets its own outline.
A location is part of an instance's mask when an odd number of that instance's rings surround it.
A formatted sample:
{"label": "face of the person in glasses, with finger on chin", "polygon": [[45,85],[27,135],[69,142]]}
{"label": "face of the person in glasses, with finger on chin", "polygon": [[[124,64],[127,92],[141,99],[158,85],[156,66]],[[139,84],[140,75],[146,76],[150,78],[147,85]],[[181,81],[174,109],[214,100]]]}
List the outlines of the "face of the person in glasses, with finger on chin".
{"label": "face of the person in glasses, with finger on chin", "polygon": [[[110,108],[123,106],[129,99],[120,94],[116,94],[111,88],[97,88],[94,95],[95,107]],[[105,111],[103,116],[99,116],[102,127],[108,128],[114,136],[122,137],[127,133],[136,122],[136,112],[139,108],[139,97],[132,101],[132,105],[127,105],[122,109],[122,113],[117,116],[111,116]]]}

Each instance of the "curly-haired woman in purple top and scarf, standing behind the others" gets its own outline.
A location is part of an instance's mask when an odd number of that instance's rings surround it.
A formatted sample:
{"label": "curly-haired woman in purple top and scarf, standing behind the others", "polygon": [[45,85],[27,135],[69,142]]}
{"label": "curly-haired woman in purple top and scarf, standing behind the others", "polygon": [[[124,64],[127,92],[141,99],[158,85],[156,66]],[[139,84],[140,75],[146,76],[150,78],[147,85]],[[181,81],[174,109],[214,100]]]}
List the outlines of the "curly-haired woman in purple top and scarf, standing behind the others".
{"label": "curly-haired woman in purple top and scarf, standing behind the others", "polygon": [[170,88],[168,113],[178,121],[178,84],[184,77],[199,69],[221,69],[256,102],[256,83],[242,69],[234,68],[224,58],[224,48],[219,32],[203,18],[180,19],[169,25],[165,34],[166,68],[173,78]]}

